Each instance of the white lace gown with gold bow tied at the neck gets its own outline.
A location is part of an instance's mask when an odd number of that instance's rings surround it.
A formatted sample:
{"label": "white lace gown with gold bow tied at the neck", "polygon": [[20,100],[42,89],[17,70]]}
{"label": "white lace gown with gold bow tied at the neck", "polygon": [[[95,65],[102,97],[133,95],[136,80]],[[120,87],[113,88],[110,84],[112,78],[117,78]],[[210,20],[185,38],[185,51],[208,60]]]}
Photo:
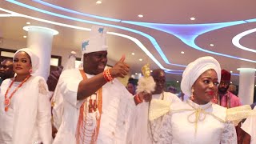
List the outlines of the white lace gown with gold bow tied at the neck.
{"label": "white lace gown with gold bow tied at the neck", "polygon": [[236,144],[234,124],[224,122],[225,119],[226,108],[212,102],[206,105],[198,105],[190,100],[174,103],[158,129],[158,143]]}

